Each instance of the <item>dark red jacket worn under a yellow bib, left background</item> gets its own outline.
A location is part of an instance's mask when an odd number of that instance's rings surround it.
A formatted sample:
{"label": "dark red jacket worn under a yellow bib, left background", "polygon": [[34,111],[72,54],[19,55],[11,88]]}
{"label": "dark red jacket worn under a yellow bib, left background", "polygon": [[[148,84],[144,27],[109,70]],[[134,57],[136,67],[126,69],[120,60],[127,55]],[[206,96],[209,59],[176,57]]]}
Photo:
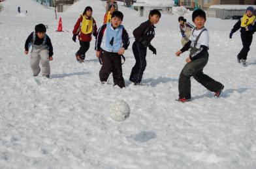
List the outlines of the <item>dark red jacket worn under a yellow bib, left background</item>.
{"label": "dark red jacket worn under a yellow bib, left background", "polygon": [[[86,19],[91,19],[91,17],[86,17]],[[93,34],[93,36],[97,36],[96,21],[93,19],[93,31],[88,34],[84,34],[81,31],[82,21],[83,21],[83,16],[81,15],[80,18],[78,18],[78,20],[76,21],[76,24],[74,25],[73,34],[77,34],[80,41],[91,42],[91,34]]]}

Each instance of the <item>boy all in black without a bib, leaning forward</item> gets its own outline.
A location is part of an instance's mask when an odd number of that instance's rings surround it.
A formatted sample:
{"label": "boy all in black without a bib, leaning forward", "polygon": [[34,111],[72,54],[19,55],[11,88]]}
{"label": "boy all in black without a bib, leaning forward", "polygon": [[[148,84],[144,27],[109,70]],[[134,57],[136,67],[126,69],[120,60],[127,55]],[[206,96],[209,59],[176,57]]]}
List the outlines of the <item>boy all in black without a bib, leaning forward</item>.
{"label": "boy all in black without a bib, leaning forward", "polygon": [[153,24],[156,24],[160,18],[161,13],[159,10],[151,10],[148,21],[141,23],[140,26],[133,31],[133,36],[135,36],[135,42],[133,43],[133,55],[135,55],[136,62],[135,66],[133,66],[133,69],[131,70],[129,80],[135,85],[141,84],[142,75],[146,69],[147,47],[153,52],[153,54],[157,55],[157,50],[150,44],[150,42],[155,36],[155,26]]}

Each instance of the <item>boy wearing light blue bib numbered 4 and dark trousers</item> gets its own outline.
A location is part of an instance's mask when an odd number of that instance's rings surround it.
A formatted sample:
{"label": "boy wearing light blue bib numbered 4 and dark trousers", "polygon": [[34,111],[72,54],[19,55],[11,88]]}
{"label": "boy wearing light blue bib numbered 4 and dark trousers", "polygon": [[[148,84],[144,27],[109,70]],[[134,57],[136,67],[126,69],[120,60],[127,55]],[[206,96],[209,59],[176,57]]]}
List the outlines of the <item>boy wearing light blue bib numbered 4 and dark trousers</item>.
{"label": "boy wearing light blue bib numbered 4 and dark trousers", "polygon": [[106,23],[99,28],[96,39],[96,55],[101,58],[103,66],[99,72],[101,83],[106,83],[110,73],[113,75],[114,85],[125,87],[123,73],[121,68],[121,55],[128,48],[129,35],[121,21],[123,14],[120,11],[114,11],[111,23]]}

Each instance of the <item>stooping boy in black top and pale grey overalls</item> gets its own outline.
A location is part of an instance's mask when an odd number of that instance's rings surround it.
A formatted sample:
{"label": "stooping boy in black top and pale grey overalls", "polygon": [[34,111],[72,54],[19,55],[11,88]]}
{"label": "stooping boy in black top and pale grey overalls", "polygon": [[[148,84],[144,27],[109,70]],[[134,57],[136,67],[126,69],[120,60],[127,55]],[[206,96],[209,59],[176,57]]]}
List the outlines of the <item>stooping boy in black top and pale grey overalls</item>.
{"label": "stooping boy in black top and pale grey overalls", "polygon": [[54,55],[52,42],[46,34],[46,27],[40,23],[35,26],[35,32],[31,32],[25,41],[25,55],[29,53],[29,46],[32,45],[30,66],[34,76],[39,75],[42,64],[42,76],[50,77],[50,62]]}

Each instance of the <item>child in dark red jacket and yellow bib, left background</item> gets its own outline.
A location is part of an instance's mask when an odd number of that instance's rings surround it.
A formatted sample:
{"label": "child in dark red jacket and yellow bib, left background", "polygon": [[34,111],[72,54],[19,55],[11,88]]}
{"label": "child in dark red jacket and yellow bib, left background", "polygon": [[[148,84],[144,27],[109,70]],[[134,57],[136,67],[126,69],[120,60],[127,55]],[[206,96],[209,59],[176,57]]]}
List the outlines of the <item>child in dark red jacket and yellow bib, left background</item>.
{"label": "child in dark red jacket and yellow bib, left background", "polygon": [[91,16],[93,9],[91,6],[87,6],[84,9],[84,13],[80,15],[80,18],[76,21],[73,29],[72,40],[76,42],[76,36],[79,38],[80,49],[76,52],[76,60],[82,63],[86,58],[86,51],[89,49],[89,42],[91,42],[91,34],[97,36],[96,21]]}

